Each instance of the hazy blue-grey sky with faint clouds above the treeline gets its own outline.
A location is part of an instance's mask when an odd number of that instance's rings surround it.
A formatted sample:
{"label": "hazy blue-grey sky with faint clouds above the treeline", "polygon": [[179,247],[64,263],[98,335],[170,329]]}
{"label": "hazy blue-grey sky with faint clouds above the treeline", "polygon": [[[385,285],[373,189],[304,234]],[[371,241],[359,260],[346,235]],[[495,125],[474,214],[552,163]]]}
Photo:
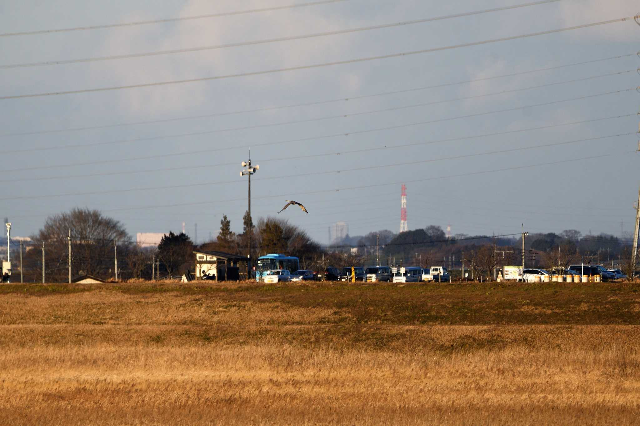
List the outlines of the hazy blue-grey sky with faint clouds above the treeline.
{"label": "hazy blue-grey sky with faint clouds above the treeline", "polygon": [[[409,229],[632,232],[640,26],[460,45],[632,17],[636,1],[559,0],[310,38],[300,36],[527,1],[343,0],[227,13],[305,3],[1,2],[0,215],[12,235],[74,207],[99,209],[132,236],[184,222],[192,239],[197,224],[202,243],[223,215],[242,232],[250,148],[260,166],[254,221],[285,218],[321,243],[337,221],[351,235],[397,232],[402,183]],[[289,40],[269,42],[280,38]],[[56,63],[233,44],[244,45]],[[352,61],[378,56],[389,57]],[[276,215],[287,199],[309,214]]]}

